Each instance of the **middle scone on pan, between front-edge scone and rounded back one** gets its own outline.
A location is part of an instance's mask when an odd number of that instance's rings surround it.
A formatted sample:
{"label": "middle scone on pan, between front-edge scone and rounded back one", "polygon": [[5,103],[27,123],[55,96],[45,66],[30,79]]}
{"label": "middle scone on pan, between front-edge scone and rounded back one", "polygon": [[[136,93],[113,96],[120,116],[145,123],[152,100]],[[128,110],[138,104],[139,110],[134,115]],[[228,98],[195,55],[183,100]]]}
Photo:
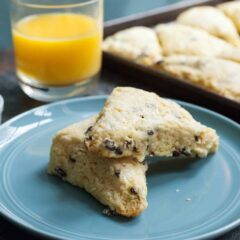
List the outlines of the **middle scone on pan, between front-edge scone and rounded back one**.
{"label": "middle scone on pan, between front-edge scone and rounded back one", "polygon": [[201,29],[179,23],[159,24],[155,29],[165,56],[198,55],[240,62],[239,48]]}

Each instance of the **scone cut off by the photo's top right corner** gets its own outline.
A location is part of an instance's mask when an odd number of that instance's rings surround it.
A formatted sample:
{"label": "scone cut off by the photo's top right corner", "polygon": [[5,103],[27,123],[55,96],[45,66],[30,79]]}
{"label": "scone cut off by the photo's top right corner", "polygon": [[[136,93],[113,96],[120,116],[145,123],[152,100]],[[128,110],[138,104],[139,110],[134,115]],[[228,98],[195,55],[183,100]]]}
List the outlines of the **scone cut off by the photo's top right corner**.
{"label": "scone cut off by the photo's top right corner", "polygon": [[229,17],[240,32],[240,2],[228,1],[218,5],[218,8]]}

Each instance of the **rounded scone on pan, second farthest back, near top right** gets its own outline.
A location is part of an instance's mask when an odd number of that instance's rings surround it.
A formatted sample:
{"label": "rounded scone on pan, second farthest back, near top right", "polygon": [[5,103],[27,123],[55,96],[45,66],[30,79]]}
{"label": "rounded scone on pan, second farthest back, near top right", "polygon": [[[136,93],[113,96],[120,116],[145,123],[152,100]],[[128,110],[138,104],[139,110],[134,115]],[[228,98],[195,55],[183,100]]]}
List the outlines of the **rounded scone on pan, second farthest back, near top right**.
{"label": "rounded scone on pan, second farthest back, near top right", "polygon": [[177,22],[200,28],[236,47],[240,46],[240,38],[235,25],[222,11],[215,7],[190,8],[178,16]]}

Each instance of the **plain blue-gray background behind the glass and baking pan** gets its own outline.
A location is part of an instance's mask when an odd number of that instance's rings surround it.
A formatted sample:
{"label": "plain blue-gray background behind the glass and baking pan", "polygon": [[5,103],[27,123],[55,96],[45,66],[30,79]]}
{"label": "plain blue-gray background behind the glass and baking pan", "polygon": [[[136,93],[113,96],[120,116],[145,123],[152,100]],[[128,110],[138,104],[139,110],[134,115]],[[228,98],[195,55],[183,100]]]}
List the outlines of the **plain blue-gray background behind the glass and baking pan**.
{"label": "plain blue-gray background behind the glass and baking pan", "polygon": [[[184,0],[105,0],[105,21]],[[0,0],[0,50],[11,48],[10,0]]]}

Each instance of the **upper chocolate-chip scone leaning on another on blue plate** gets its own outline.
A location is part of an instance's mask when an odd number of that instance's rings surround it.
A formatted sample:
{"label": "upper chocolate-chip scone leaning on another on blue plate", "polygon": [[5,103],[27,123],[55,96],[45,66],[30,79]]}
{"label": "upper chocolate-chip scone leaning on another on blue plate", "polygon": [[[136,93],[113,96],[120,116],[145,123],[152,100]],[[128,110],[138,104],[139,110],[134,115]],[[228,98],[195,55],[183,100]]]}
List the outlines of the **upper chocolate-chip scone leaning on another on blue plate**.
{"label": "upper chocolate-chip scone leaning on another on blue plate", "polygon": [[105,157],[205,157],[218,146],[215,130],[155,93],[117,87],[86,132],[89,151]]}

